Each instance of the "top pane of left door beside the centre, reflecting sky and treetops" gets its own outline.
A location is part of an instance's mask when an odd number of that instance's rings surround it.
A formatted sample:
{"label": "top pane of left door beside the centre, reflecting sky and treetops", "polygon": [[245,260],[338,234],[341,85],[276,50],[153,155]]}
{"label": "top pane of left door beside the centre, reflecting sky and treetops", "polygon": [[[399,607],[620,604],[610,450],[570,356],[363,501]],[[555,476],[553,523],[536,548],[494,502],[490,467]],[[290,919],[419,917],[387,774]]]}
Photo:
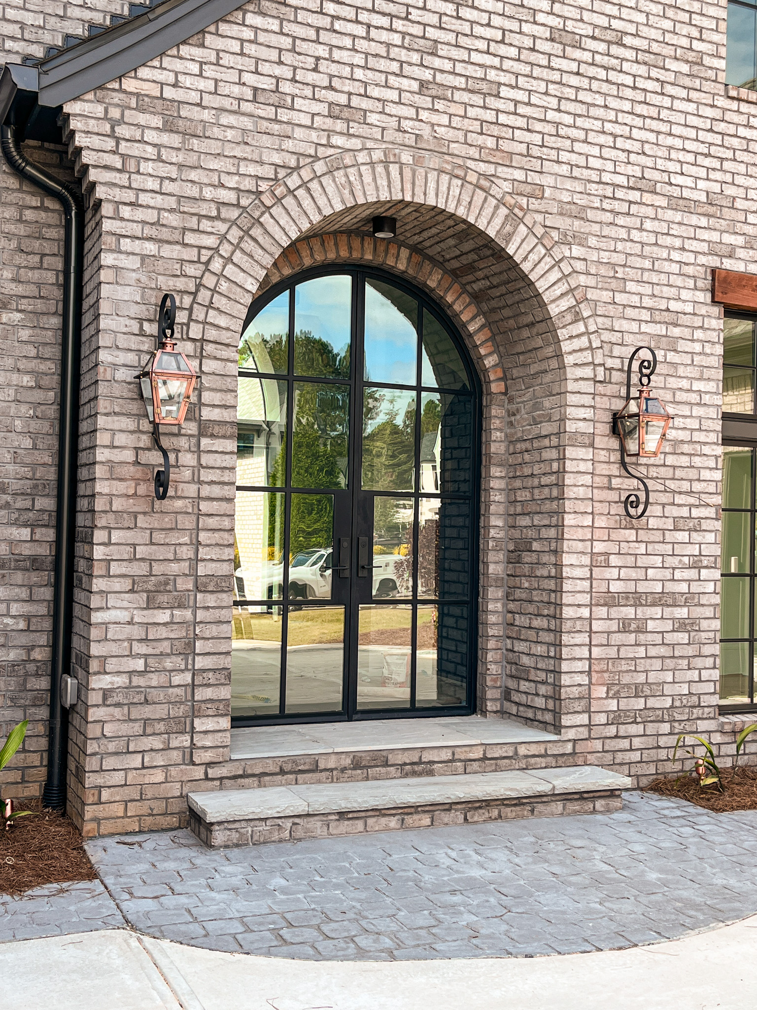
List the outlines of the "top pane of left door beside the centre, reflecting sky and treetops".
{"label": "top pane of left door beside the centre, reflecting sky and treetops", "polygon": [[295,373],[349,378],[352,278],[317,277],[295,288]]}

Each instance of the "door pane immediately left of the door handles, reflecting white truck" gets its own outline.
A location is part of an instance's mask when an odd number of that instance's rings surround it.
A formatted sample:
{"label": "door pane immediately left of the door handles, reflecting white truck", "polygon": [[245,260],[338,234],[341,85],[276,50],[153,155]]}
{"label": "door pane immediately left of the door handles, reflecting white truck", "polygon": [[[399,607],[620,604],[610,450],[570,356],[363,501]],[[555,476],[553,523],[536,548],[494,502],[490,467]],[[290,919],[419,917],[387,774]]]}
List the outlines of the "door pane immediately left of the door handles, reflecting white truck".
{"label": "door pane immediately left of the door handles, reflecting white truck", "polygon": [[290,600],[331,599],[332,495],[292,495],[289,533]]}

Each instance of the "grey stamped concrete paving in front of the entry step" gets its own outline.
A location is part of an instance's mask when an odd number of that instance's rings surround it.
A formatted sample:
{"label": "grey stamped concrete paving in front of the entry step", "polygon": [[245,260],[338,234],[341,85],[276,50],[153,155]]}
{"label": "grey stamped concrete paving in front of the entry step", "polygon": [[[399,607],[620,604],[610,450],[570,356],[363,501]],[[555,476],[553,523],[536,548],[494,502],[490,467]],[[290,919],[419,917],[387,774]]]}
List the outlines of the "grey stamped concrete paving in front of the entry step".
{"label": "grey stamped concrete paving in front of the entry step", "polygon": [[[612,814],[209,850],[101,838],[107,889],[0,900],[0,939],[112,927],[290,958],[414,961],[630,947],[757,910],[757,811],[625,794]],[[87,901],[87,889],[92,889]]]}

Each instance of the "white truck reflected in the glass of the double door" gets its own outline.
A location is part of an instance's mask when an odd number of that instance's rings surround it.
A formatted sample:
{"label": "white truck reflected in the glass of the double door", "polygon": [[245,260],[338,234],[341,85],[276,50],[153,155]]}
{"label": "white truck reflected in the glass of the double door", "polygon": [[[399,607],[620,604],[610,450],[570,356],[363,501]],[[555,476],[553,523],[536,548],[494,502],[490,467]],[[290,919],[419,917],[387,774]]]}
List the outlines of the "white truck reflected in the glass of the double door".
{"label": "white truck reflected in the glass of the double door", "polygon": [[[289,567],[291,600],[331,599],[330,549],[302,550]],[[399,554],[373,558],[373,598],[386,599],[406,592],[411,560]],[[238,568],[234,573],[235,598],[239,600],[281,600],[284,592],[284,566],[266,565],[262,570]]]}

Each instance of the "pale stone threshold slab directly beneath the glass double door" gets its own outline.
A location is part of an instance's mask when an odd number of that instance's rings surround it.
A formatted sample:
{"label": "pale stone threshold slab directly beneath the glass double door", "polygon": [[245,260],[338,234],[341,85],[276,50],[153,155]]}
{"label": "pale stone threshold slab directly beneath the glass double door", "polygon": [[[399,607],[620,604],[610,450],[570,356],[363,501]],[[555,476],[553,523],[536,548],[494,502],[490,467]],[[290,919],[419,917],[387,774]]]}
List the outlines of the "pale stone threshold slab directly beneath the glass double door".
{"label": "pale stone threshold slab directly beneath the glass double door", "polygon": [[304,754],[559,740],[511,719],[454,715],[439,719],[376,719],[289,726],[245,726],[231,730],[231,760],[296,758]]}

